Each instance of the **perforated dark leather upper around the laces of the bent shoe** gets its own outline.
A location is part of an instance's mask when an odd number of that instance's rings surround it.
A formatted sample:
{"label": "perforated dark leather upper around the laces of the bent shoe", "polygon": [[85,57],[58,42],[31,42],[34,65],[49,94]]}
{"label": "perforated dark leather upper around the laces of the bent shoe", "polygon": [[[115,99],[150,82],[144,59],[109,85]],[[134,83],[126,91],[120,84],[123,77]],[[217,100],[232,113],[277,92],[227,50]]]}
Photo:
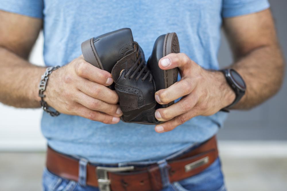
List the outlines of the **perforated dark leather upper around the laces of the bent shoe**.
{"label": "perforated dark leather upper around the laces of the bent shoe", "polygon": [[[144,54],[141,51],[140,48],[141,60],[145,62]],[[122,119],[129,122],[155,123],[154,81],[141,80],[145,73],[141,74],[138,80],[135,80],[135,77],[131,79],[125,77],[136,60],[137,51],[135,50],[119,60],[112,70],[115,90],[119,95],[120,107],[123,111]],[[135,76],[138,74],[139,72]]]}

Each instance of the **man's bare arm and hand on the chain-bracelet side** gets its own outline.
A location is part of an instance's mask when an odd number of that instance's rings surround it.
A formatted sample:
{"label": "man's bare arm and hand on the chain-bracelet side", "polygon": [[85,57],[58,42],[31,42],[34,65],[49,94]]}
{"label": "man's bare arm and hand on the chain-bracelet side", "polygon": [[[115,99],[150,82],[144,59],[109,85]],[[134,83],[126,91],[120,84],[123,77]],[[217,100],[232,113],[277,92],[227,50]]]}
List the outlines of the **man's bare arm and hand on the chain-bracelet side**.
{"label": "man's bare arm and hand on the chain-bracelet side", "polygon": [[[40,107],[38,86],[45,68],[27,59],[42,20],[0,11],[0,23],[0,102],[14,107]],[[113,83],[111,77],[80,56],[52,72],[44,100],[61,113],[118,123],[122,115],[116,105],[119,98],[106,87]]]}

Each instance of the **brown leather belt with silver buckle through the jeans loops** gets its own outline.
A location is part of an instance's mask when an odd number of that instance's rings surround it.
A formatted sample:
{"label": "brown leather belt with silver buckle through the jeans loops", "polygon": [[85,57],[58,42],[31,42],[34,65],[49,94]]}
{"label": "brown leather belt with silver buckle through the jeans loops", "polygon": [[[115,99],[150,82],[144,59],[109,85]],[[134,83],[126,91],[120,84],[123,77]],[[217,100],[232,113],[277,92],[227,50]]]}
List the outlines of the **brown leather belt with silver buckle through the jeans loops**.
{"label": "brown leather belt with silver buckle through the jeans loops", "polygon": [[[200,173],[210,166],[218,157],[216,137],[202,143],[197,148],[167,161],[170,182],[183,180]],[[58,153],[48,147],[47,169],[69,180],[78,181],[79,160]],[[89,186],[99,187],[100,190],[114,191],[149,191],[161,190],[162,180],[157,164],[148,167],[97,167],[87,164],[87,181]]]}

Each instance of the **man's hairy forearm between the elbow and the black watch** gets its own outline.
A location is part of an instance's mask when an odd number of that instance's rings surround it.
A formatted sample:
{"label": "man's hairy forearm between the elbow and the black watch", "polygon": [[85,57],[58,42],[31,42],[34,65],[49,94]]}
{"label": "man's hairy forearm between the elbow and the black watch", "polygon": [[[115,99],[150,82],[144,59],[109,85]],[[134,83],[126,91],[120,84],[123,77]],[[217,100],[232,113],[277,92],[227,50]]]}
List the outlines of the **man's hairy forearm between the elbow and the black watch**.
{"label": "man's hairy forearm between the elbow and the black watch", "polygon": [[250,109],[278,92],[284,76],[284,59],[278,45],[262,46],[239,58],[231,68],[247,86],[245,95],[232,109]]}

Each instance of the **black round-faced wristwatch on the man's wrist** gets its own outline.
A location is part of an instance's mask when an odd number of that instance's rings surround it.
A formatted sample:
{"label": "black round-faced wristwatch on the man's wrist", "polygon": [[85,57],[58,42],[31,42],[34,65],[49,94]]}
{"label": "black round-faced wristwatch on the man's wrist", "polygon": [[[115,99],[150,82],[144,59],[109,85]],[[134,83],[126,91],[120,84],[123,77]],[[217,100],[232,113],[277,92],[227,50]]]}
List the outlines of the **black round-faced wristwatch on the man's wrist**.
{"label": "black round-faced wristwatch on the man's wrist", "polygon": [[235,100],[230,105],[221,109],[221,111],[227,111],[228,112],[228,108],[230,108],[233,105],[235,105],[236,103],[238,103],[238,101],[245,94],[246,84],[245,84],[243,78],[234,69],[228,68],[228,69],[223,69],[220,71],[224,74],[228,85],[231,87],[231,89],[234,91],[234,93],[236,95]]}

